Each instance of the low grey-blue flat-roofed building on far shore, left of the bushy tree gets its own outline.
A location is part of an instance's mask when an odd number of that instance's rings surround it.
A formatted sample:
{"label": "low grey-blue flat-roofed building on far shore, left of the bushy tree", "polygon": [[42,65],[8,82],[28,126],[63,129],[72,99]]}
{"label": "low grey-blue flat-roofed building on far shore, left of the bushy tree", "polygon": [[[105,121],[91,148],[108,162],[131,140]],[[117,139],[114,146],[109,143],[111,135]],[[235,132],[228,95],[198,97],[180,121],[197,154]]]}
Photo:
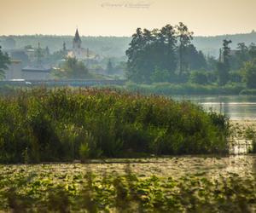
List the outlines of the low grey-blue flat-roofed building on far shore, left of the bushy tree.
{"label": "low grey-blue flat-roofed building on far shore, left of the bushy tree", "polygon": [[50,78],[50,67],[26,66],[22,69],[21,77],[25,80],[48,80]]}

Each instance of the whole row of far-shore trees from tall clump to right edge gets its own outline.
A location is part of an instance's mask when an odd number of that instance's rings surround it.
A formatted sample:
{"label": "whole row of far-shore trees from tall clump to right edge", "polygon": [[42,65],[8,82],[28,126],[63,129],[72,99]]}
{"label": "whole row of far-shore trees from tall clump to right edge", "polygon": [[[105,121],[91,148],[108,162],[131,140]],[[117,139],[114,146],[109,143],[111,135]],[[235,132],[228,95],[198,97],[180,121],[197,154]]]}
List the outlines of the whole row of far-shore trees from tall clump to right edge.
{"label": "whole row of far-shore trees from tall clump to right edge", "polygon": [[[193,32],[183,23],[148,31],[137,28],[126,50],[127,77],[136,83],[197,83],[256,88],[256,45],[224,39],[218,59],[195,48]],[[238,86],[238,87],[241,87]],[[238,88],[237,87],[237,88]]]}

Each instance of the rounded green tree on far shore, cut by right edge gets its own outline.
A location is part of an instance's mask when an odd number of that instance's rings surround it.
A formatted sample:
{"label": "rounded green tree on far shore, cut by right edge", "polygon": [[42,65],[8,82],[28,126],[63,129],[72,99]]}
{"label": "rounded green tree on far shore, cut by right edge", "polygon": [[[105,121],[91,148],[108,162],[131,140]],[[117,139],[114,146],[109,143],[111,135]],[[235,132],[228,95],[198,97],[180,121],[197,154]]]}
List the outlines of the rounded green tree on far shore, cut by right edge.
{"label": "rounded green tree on far shore, cut by right edge", "polygon": [[247,61],[242,68],[243,79],[250,89],[256,89],[256,60]]}

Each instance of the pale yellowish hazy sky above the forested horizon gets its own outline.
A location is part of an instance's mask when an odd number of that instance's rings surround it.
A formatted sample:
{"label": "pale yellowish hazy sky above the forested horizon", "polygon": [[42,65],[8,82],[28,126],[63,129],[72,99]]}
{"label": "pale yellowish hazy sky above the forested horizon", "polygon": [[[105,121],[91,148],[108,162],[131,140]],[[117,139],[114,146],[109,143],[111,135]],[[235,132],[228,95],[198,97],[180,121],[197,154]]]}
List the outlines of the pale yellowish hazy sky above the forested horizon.
{"label": "pale yellowish hazy sky above the forested horizon", "polygon": [[0,35],[131,36],[183,21],[195,35],[256,29],[256,0],[0,0]]}

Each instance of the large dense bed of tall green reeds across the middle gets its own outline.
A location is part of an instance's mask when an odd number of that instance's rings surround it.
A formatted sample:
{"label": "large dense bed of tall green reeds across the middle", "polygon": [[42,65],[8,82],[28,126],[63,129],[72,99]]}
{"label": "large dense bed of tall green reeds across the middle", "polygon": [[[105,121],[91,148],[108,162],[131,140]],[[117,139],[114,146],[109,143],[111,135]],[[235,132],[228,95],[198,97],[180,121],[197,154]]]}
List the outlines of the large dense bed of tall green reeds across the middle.
{"label": "large dense bed of tall green reeds across the middle", "polygon": [[161,96],[29,89],[0,109],[2,163],[227,152],[227,118]]}

